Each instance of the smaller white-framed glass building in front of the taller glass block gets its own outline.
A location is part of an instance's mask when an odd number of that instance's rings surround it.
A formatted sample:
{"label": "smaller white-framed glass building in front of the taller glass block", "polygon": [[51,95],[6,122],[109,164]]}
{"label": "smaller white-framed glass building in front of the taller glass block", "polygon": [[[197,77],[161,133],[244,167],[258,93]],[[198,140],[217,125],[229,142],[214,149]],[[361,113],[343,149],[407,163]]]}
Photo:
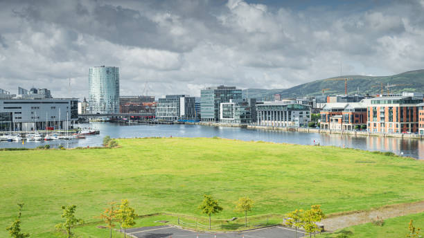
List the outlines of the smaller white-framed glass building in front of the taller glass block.
{"label": "smaller white-framed glass building in front of the taller glass block", "polygon": [[220,122],[233,125],[251,124],[251,107],[247,100],[230,99],[220,104]]}

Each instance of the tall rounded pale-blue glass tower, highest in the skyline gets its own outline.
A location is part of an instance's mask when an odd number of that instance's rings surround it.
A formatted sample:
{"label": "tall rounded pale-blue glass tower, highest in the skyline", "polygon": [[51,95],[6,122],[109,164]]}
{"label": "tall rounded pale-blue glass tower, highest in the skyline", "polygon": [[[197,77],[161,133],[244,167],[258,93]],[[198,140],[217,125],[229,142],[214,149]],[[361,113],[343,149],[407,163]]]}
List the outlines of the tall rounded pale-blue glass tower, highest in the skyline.
{"label": "tall rounded pale-blue glass tower, highest in the skyline", "polygon": [[89,68],[89,112],[119,113],[119,68]]}

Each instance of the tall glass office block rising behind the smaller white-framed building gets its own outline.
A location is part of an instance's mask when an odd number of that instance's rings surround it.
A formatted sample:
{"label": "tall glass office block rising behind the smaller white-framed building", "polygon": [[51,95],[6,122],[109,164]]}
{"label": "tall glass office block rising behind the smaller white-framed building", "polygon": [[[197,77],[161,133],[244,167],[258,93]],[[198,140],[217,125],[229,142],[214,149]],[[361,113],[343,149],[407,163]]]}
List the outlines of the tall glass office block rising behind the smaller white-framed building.
{"label": "tall glass office block rising behind the smaller white-framed building", "polygon": [[213,86],[200,91],[200,115],[204,122],[218,122],[220,104],[230,99],[241,99],[242,90],[235,86]]}

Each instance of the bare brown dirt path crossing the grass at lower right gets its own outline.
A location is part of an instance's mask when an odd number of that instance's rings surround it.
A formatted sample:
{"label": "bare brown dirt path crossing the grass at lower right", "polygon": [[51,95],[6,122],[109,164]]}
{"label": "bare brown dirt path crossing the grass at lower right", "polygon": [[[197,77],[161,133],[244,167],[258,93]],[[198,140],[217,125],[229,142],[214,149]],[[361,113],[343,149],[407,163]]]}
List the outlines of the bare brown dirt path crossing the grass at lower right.
{"label": "bare brown dirt path crossing the grass at lower right", "polygon": [[363,223],[371,222],[371,219],[388,219],[391,217],[400,217],[407,214],[414,214],[424,212],[424,201],[416,203],[401,203],[395,205],[385,205],[381,208],[376,208],[366,211],[357,212],[342,212],[339,214],[332,214],[327,219],[321,221],[326,230],[337,230],[346,228],[348,226],[360,225]]}

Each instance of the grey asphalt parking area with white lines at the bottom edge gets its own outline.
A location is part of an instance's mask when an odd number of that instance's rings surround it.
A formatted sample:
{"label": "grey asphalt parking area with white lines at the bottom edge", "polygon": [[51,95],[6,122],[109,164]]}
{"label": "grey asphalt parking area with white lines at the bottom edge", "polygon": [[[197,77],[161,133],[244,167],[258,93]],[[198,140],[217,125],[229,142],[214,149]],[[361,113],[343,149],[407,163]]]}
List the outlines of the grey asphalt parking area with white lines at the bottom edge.
{"label": "grey asphalt parking area with white lines at the bottom edge", "polygon": [[[250,230],[245,232],[227,232],[227,233],[205,233],[194,232],[191,230],[184,230],[171,226],[150,226],[144,228],[134,228],[127,230],[127,235],[132,235],[137,238],[292,238],[294,237],[294,230],[283,228],[281,226],[274,226],[270,228],[263,228],[258,230]],[[301,237],[298,232],[297,237]]]}

